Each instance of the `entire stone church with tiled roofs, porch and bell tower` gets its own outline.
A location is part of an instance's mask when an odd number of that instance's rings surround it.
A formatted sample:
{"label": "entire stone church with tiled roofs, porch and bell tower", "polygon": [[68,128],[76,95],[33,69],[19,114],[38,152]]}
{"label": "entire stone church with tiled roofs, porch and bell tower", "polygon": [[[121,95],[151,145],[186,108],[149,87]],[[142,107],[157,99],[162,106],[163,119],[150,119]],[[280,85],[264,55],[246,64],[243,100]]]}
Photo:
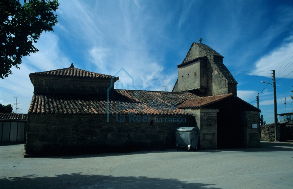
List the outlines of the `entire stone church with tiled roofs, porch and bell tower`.
{"label": "entire stone church with tiled roofs, porch and bell tower", "polygon": [[259,112],[209,46],[193,43],[172,92],[118,90],[118,77],[68,68],[29,75],[26,155],[175,148],[174,129],[200,129],[200,148],[260,147]]}

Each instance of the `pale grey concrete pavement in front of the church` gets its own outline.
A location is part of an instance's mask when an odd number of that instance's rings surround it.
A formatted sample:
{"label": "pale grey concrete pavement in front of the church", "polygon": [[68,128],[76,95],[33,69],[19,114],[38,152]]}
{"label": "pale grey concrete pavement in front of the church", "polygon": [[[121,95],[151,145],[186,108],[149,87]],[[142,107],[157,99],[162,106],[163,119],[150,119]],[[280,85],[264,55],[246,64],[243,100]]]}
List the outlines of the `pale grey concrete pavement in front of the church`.
{"label": "pale grey concrete pavement in front of the church", "polygon": [[23,158],[0,146],[1,188],[292,188],[293,143]]}

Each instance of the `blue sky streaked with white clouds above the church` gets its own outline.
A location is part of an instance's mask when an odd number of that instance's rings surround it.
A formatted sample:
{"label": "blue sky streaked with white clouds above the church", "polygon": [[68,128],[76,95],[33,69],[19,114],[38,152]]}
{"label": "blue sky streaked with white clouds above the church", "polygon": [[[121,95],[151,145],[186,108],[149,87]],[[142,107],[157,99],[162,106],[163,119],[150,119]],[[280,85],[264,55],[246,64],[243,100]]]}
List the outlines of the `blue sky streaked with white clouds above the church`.
{"label": "blue sky streaked with white clouds above the church", "polygon": [[[210,46],[225,58],[240,98],[274,122],[271,70],[277,76],[278,113],[292,112],[293,1],[66,1],[59,0],[54,32],[42,33],[40,51],[0,80],[0,103],[18,99],[27,113],[33,95],[28,74],[69,67],[114,75],[121,67],[139,90],[172,90],[176,65],[191,44]],[[121,84],[130,83],[119,73]],[[121,86],[121,85],[120,85]],[[125,86],[125,85],[124,85]]]}

